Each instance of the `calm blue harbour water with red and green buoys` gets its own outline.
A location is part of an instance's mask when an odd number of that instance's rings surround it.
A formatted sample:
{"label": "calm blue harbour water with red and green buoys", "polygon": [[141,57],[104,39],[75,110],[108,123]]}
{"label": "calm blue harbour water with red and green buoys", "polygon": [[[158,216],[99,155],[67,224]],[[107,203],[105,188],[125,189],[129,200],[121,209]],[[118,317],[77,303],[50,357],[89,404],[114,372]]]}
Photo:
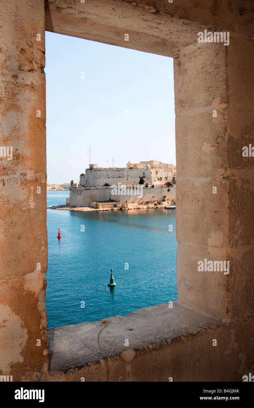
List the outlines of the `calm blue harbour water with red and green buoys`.
{"label": "calm blue harbour water with red and green buoys", "polygon": [[[66,197],[69,191],[50,191],[47,205]],[[169,224],[173,232],[168,232]],[[126,315],[177,299],[175,210],[48,209],[47,229],[49,328]],[[114,289],[108,287],[110,268]]]}

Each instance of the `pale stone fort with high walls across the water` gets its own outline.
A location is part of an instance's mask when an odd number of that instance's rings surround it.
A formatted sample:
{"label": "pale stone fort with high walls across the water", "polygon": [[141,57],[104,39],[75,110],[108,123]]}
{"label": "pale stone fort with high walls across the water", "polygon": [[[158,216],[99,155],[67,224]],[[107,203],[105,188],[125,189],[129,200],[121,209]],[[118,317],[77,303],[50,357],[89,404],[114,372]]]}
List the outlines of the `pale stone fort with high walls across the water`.
{"label": "pale stone fort with high walls across the water", "polygon": [[135,165],[128,163],[124,168],[89,164],[86,173],[80,175],[79,188],[71,189],[70,206],[86,207],[92,203],[94,206],[96,202],[108,201],[121,204],[159,201],[174,205],[175,181],[176,167],[154,160]]}

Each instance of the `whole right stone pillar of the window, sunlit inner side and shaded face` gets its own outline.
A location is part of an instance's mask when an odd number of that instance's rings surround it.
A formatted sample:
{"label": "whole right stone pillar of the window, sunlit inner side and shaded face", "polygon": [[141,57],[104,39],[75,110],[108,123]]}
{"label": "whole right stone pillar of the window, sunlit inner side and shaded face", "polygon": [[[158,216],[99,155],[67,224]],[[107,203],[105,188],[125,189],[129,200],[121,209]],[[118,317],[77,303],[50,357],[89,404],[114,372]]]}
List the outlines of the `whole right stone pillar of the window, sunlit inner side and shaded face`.
{"label": "whole right stone pillar of the window, sunlit inner side and shaded face", "polygon": [[[179,302],[249,334],[254,157],[242,148],[254,145],[253,60],[251,35],[233,33],[228,46],[194,44],[174,59]],[[229,260],[230,273],[199,272],[204,258]]]}

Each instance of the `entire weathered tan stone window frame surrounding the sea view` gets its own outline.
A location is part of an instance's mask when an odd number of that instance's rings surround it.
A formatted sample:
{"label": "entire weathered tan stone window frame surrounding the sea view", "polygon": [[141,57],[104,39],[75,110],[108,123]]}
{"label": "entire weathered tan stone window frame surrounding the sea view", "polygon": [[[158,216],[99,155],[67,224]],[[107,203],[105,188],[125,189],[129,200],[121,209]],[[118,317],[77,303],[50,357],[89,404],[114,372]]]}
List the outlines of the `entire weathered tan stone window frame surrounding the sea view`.
{"label": "entire weathered tan stone window frame surrounding the sea view", "polygon": [[[229,375],[229,378],[238,380],[239,377],[235,373],[247,364],[247,361],[244,363],[244,356],[248,340],[241,337],[241,333],[249,330],[246,319],[253,315],[251,288],[249,286],[247,292],[245,285],[251,281],[250,265],[254,262],[250,262],[250,254],[247,254],[248,262],[243,259],[242,253],[246,253],[245,247],[251,247],[252,240],[248,230],[249,214],[237,212],[237,197],[244,191],[244,205],[251,208],[252,185],[248,177],[252,169],[247,161],[244,164],[241,155],[235,152],[241,151],[246,140],[252,140],[250,129],[253,98],[250,85],[253,78],[250,64],[254,60],[253,31],[248,13],[240,16],[234,7],[234,10],[227,9],[228,19],[225,19],[225,5],[216,6],[218,12],[216,11],[215,28],[213,12],[212,15],[211,10],[199,12],[199,7],[205,7],[203,2],[199,2],[197,9],[189,7],[188,4],[188,15],[184,0],[179,0],[179,3],[181,7],[177,6],[176,9],[174,4],[159,1],[153,1],[153,5],[148,6],[144,0],[138,0],[134,4],[113,0],[85,3],[74,0],[46,0],[45,4],[44,0],[37,0],[31,4],[30,0],[23,0],[15,4],[15,13],[11,11],[7,0],[1,3],[6,16],[2,22],[1,55],[6,54],[8,57],[3,60],[2,69],[3,85],[1,84],[0,97],[4,103],[0,105],[3,113],[1,126],[3,144],[15,146],[14,160],[7,162],[4,168],[1,215],[5,221],[11,219],[12,223],[15,222],[15,238],[18,238],[18,241],[13,241],[13,230],[4,229],[3,247],[6,250],[1,270],[4,277],[4,313],[9,317],[8,322],[15,321],[16,327],[15,336],[11,338],[11,347],[5,353],[5,364],[11,367],[14,381],[52,379],[48,371],[45,306],[45,29],[174,58],[177,153],[178,301],[172,309],[166,308],[167,305],[158,305],[152,309],[148,308],[149,313],[142,309],[123,319],[113,317],[109,324],[108,319],[95,322],[98,327],[94,330],[91,349],[94,350],[92,354],[96,355],[96,361],[91,361],[88,357],[87,362],[80,363],[79,360],[79,363],[73,363],[73,357],[74,361],[75,356],[79,355],[80,358],[83,347],[81,343],[89,325],[74,326],[76,330],[80,330],[81,349],[77,343],[75,346],[70,344],[69,356],[66,356],[64,346],[66,348],[68,345],[68,339],[75,340],[77,336],[74,333],[71,335],[69,326],[54,329],[48,333],[50,361],[51,368],[54,364],[58,368],[51,376],[55,376],[56,380],[64,378],[65,381],[80,381],[78,376],[75,377],[74,371],[80,375],[83,367],[88,377],[95,379],[108,378],[112,381],[122,377],[131,381],[132,378],[141,379],[151,375],[151,378],[157,376],[165,380],[168,375],[165,364],[167,361],[173,365],[174,380],[186,381],[187,378],[190,381],[191,370],[188,370],[188,377],[183,370],[179,371],[178,367],[195,361],[198,373],[195,378],[199,378],[199,381],[211,380],[211,375],[216,380],[227,381],[222,371],[218,371],[217,375],[213,371],[208,376],[201,362],[195,360],[193,355],[192,350],[197,350],[197,347],[199,352],[203,350],[205,353],[206,366],[209,362],[212,367],[214,364],[217,364],[217,367],[220,364],[226,365],[224,354],[234,355],[234,359],[230,360],[231,373],[234,374],[231,377]],[[130,27],[128,42],[125,41],[127,22]],[[199,31],[220,31],[225,29],[225,26],[230,27],[230,47],[197,42]],[[37,33],[41,34],[40,42],[36,38]],[[246,55],[252,58],[246,58]],[[241,66],[236,64],[237,60],[241,61]],[[245,72],[244,80],[242,69]],[[215,80],[213,73],[216,73]],[[241,112],[238,116],[236,106]],[[217,112],[216,120],[211,118],[213,109]],[[36,115],[38,110],[40,116]],[[190,160],[193,157],[195,160]],[[245,173],[246,170],[248,172]],[[205,198],[210,195],[214,182],[219,191],[216,197],[211,196],[210,209],[207,211]],[[35,194],[37,186],[41,187],[40,196]],[[234,230],[236,222],[237,232]],[[214,259],[230,257],[232,275],[197,275],[197,260],[210,254]],[[13,270],[17,259],[18,268]],[[38,262],[41,269],[36,268]],[[242,264],[245,265],[245,279],[241,279]],[[157,316],[156,310],[163,310],[163,319],[158,318],[159,327],[152,317]],[[140,332],[142,338],[135,337],[135,330],[131,330],[135,316],[139,318],[136,322],[139,323],[138,327],[148,322]],[[122,333],[128,330],[134,337],[130,348],[124,349],[122,344],[115,346],[105,357],[105,350],[101,343],[98,344],[97,339],[101,328],[103,333],[109,330],[111,336],[114,319],[119,319],[124,324]],[[5,333],[4,330],[1,330],[1,336]],[[65,337],[60,333],[62,330]],[[119,328],[119,333],[121,330]],[[156,333],[159,333],[159,338]],[[207,350],[211,350],[210,340],[214,333],[225,350],[219,357],[212,352],[207,353]],[[9,337],[7,341],[8,339]],[[40,347],[35,346],[36,339],[41,340]],[[244,346],[236,346],[240,344],[238,339],[241,339]],[[102,359],[99,357],[100,352]],[[65,359],[64,362],[61,361],[61,355]],[[192,358],[189,358],[190,355]],[[57,356],[60,358],[58,366]],[[239,368],[240,363],[237,364],[241,358],[243,368]],[[84,356],[82,359],[84,360]],[[148,365],[144,359],[149,361]],[[70,366],[66,372],[71,361],[76,366]],[[139,364],[140,361],[143,361],[143,365]],[[90,363],[93,364],[89,368]],[[79,364],[81,366],[78,366]],[[130,369],[134,371],[131,373]],[[96,370],[97,375],[94,374]]]}

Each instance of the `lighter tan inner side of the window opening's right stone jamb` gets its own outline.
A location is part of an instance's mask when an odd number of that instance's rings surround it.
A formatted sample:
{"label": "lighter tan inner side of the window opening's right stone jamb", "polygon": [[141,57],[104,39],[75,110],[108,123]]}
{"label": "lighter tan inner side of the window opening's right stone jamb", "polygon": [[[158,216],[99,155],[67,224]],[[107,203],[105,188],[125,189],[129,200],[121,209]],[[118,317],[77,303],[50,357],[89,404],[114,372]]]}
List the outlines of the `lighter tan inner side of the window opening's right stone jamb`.
{"label": "lighter tan inner side of the window opening's right stone jamb", "polygon": [[230,274],[199,272],[198,262],[229,255],[226,53],[221,43],[196,43],[174,58],[178,300],[219,319]]}

